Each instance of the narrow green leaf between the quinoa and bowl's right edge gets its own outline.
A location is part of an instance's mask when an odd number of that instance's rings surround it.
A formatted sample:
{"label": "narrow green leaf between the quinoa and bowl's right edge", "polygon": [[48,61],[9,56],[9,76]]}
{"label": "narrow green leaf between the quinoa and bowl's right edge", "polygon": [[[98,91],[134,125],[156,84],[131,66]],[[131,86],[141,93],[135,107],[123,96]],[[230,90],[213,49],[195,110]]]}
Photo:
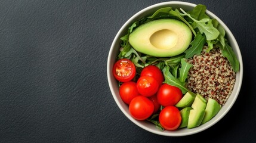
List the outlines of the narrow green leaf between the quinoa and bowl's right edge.
{"label": "narrow green leaf between the quinoa and bowl's right edge", "polygon": [[231,66],[232,66],[232,69],[235,72],[238,72],[238,70],[239,70],[238,58],[236,58],[235,52],[233,51],[231,46],[229,46],[229,44],[227,44],[227,42],[225,43],[225,46],[222,49],[222,54],[223,54],[224,57],[227,58],[227,60],[229,60]]}

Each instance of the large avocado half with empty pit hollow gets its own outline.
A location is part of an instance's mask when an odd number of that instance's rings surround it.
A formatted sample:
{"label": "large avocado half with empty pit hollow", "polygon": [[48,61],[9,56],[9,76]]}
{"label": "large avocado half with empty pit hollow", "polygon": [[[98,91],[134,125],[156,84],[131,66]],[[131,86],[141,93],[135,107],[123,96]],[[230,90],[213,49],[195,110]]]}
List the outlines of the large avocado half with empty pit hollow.
{"label": "large avocado half with empty pit hollow", "polygon": [[129,35],[131,46],[143,54],[171,57],[184,52],[192,40],[189,26],[175,19],[149,21]]}

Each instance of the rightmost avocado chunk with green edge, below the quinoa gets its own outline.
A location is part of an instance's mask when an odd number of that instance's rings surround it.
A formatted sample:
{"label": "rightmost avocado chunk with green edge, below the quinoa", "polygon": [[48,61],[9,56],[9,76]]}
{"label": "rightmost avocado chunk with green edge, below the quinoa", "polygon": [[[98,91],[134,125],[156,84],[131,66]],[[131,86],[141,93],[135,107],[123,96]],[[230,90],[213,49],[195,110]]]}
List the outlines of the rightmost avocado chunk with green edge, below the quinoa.
{"label": "rightmost avocado chunk with green edge, below the quinoa", "polygon": [[220,109],[221,105],[218,104],[216,100],[209,98],[205,108],[205,117],[203,117],[202,124],[211,120],[212,117],[214,117],[218,111],[220,111]]}

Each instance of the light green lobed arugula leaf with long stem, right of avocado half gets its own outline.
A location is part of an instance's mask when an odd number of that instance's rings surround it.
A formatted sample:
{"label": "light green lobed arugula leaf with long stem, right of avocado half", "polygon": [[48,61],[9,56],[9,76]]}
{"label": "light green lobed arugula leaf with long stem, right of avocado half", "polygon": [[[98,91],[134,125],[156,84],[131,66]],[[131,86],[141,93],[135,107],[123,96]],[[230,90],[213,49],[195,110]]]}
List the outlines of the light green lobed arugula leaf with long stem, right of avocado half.
{"label": "light green lobed arugula leaf with long stem, right of avocado half", "polygon": [[180,8],[180,10],[194,21],[192,24],[194,29],[198,28],[201,33],[205,33],[206,39],[208,41],[216,39],[218,37],[218,35],[220,34],[220,32],[218,32],[218,29],[216,29],[211,22],[206,23],[210,20],[209,18],[203,18],[201,20],[196,20],[195,18],[191,17],[190,14],[187,14],[181,8]]}

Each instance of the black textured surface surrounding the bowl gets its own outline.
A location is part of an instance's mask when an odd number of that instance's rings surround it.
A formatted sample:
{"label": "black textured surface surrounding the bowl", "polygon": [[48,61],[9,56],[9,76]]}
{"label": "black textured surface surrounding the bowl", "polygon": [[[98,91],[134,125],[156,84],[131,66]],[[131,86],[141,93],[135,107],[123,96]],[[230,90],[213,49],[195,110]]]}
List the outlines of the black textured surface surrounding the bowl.
{"label": "black textured surface surrounding the bowl", "polygon": [[1,1],[0,142],[256,142],[256,2],[205,4],[243,57],[243,85],[227,115],[195,135],[134,125],[107,83],[107,55],[122,24],[164,1]]}

